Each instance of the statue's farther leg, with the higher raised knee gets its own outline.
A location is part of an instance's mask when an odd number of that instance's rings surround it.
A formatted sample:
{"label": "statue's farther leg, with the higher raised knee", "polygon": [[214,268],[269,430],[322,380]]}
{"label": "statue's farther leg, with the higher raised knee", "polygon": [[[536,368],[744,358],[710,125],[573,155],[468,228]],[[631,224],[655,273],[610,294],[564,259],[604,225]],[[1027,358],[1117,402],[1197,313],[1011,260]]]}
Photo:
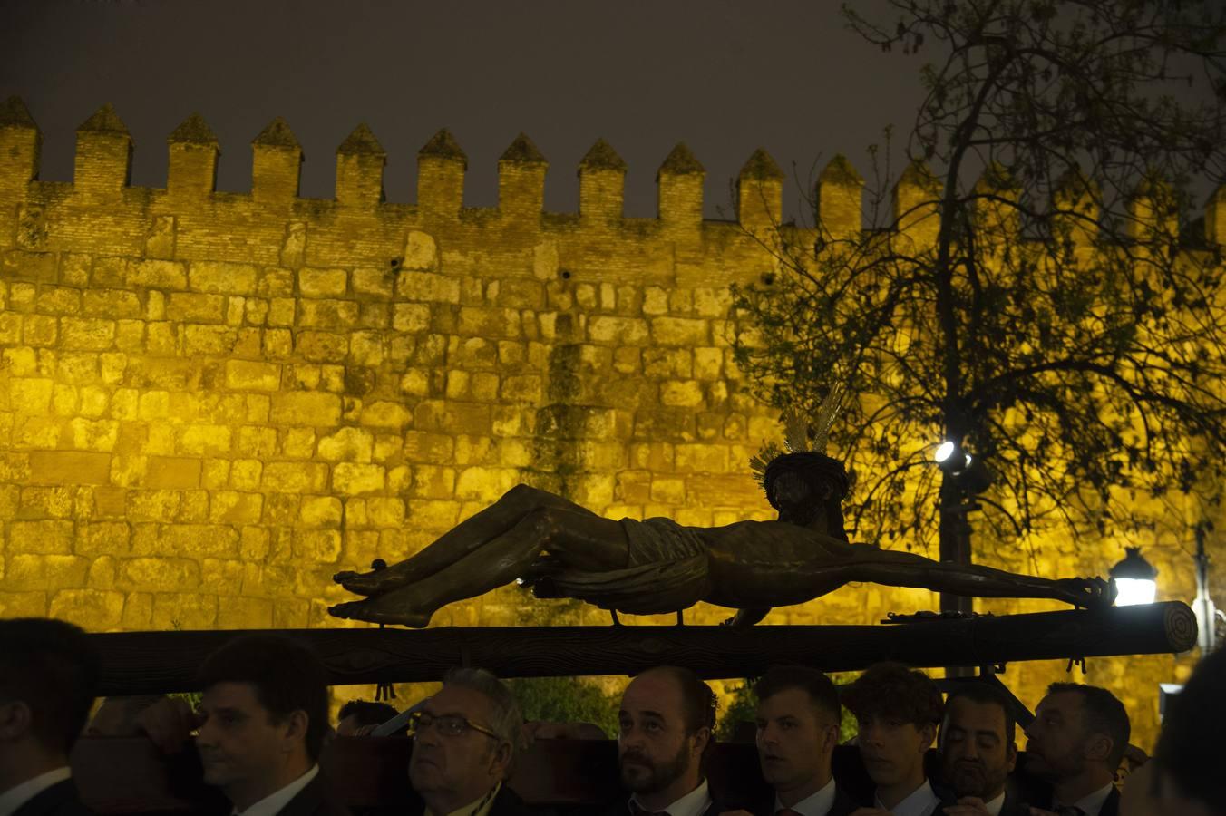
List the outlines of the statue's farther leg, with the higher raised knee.
{"label": "statue's farther leg, with the higher raised knee", "polygon": [[506,533],[539,507],[593,515],[590,510],[562,496],[521,484],[508,490],[489,507],[456,524],[413,556],[378,571],[337,572],[332,580],[359,595],[375,595],[416,583]]}

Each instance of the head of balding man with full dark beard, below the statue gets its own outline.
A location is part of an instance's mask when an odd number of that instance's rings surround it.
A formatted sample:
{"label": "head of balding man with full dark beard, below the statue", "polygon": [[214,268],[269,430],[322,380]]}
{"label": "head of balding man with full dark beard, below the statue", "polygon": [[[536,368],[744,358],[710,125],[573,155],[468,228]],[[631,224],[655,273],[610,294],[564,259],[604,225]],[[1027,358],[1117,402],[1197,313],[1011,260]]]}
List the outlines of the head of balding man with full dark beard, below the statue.
{"label": "head of balding man with full dark beard, below the statue", "polygon": [[[656,667],[625,687],[618,711],[618,768],[633,816],[716,816],[704,761],[714,740],[716,700],[680,667]],[[618,816],[626,810],[613,809]]]}

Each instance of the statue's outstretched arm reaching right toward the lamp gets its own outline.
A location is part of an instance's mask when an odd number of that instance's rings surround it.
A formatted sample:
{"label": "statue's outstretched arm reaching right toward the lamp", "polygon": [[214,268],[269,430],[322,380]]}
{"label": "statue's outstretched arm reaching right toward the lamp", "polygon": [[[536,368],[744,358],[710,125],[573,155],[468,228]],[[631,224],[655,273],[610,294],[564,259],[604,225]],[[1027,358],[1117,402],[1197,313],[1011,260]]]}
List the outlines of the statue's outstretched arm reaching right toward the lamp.
{"label": "statue's outstretched arm reaching right toward the lamp", "polygon": [[[863,545],[855,549],[859,546]],[[1040,578],[867,546],[852,555],[841,569],[848,582],[917,587],[972,598],[1051,598],[1075,606],[1110,606],[1114,602],[1114,586],[1100,578]]]}

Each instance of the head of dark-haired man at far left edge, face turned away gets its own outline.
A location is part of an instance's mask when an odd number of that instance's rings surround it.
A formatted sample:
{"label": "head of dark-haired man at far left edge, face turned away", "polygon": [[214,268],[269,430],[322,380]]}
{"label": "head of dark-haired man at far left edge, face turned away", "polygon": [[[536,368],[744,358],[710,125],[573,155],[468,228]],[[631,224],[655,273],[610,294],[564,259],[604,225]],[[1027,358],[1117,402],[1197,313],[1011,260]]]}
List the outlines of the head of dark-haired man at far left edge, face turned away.
{"label": "head of dark-haired man at far left edge, face turned away", "polygon": [[0,621],[0,816],[89,816],[69,751],[98,678],[98,654],[76,626]]}

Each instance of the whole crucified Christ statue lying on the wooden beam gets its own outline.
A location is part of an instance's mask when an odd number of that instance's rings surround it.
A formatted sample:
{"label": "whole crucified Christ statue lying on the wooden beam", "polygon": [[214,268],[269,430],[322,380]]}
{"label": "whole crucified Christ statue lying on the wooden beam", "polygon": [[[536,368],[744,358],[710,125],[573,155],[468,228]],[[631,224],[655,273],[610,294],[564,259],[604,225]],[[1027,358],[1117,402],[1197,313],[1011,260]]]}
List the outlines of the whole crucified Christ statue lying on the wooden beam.
{"label": "whole crucified Christ statue lying on the wooden beam", "polygon": [[1051,598],[1111,605],[1100,578],[1038,578],[986,566],[943,564],[912,553],[852,544],[840,504],[842,464],[823,453],[786,453],[766,468],[774,522],[683,527],[668,518],[603,518],[544,490],[519,485],[412,557],[333,580],[365,600],[329,611],[423,627],[441,606],[519,580],[538,597],[577,598],[650,615],[705,600],[752,625],[770,611],[850,582],[918,587],[982,598]]}

